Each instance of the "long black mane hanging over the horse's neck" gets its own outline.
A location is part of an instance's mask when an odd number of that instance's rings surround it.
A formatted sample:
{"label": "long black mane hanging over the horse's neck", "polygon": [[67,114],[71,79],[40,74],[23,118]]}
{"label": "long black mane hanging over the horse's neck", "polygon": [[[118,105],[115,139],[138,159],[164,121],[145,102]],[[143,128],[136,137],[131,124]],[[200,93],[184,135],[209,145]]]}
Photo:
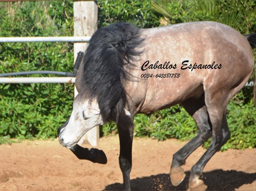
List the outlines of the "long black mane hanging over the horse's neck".
{"label": "long black mane hanging over the horse's neck", "polygon": [[122,85],[129,80],[124,69],[132,65],[143,39],[139,28],[115,23],[98,29],[92,36],[83,59],[83,87],[90,100],[97,99],[103,120],[124,113],[126,93]]}

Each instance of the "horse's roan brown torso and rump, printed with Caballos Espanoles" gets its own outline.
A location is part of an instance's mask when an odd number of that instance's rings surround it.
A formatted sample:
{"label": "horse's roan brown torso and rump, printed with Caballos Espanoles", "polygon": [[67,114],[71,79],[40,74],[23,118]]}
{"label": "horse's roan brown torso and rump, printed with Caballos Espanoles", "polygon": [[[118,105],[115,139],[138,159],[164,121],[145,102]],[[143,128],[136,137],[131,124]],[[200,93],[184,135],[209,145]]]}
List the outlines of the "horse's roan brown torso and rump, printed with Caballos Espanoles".
{"label": "horse's roan brown torso and rump, printed with Caballos Espanoles", "polygon": [[191,22],[141,29],[143,54],[127,68],[129,105],[149,113],[198,98],[208,91],[229,92],[227,101],[248,81],[254,57],[247,39],[216,22]]}

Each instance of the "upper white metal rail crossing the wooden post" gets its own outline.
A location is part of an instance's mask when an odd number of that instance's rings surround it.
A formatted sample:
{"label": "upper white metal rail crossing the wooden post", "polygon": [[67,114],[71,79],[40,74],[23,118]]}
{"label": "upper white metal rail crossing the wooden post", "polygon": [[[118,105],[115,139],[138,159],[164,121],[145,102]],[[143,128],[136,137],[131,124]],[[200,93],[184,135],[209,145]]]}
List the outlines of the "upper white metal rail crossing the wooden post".
{"label": "upper white metal rail crossing the wooden post", "polygon": [[91,37],[0,37],[0,43],[8,42],[89,42]]}

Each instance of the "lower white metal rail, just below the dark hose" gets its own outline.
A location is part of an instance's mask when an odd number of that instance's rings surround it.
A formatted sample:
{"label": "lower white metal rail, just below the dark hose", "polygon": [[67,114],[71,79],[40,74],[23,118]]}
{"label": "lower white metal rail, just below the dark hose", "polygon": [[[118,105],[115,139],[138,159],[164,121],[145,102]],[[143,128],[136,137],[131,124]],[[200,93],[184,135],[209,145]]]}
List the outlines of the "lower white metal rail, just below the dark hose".
{"label": "lower white metal rail, just below the dark hose", "polygon": [[0,84],[33,84],[33,83],[75,83],[75,77],[14,77],[14,78],[0,78]]}

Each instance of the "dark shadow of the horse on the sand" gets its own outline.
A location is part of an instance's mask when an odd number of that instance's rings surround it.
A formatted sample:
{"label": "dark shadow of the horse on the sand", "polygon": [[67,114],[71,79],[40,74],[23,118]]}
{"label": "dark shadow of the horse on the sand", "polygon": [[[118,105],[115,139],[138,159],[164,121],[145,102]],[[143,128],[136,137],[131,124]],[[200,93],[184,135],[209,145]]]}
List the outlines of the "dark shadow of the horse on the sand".
{"label": "dark shadow of the horse on the sand", "polygon": [[[151,175],[149,177],[131,180],[132,190],[187,190],[190,172],[186,171],[186,177],[179,186],[172,186],[169,174]],[[244,184],[250,184],[256,180],[256,173],[245,173],[236,170],[213,170],[205,172],[203,180],[208,186],[207,190],[235,190]],[[114,183],[106,186],[105,190],[123,190],[123,184]]]}

